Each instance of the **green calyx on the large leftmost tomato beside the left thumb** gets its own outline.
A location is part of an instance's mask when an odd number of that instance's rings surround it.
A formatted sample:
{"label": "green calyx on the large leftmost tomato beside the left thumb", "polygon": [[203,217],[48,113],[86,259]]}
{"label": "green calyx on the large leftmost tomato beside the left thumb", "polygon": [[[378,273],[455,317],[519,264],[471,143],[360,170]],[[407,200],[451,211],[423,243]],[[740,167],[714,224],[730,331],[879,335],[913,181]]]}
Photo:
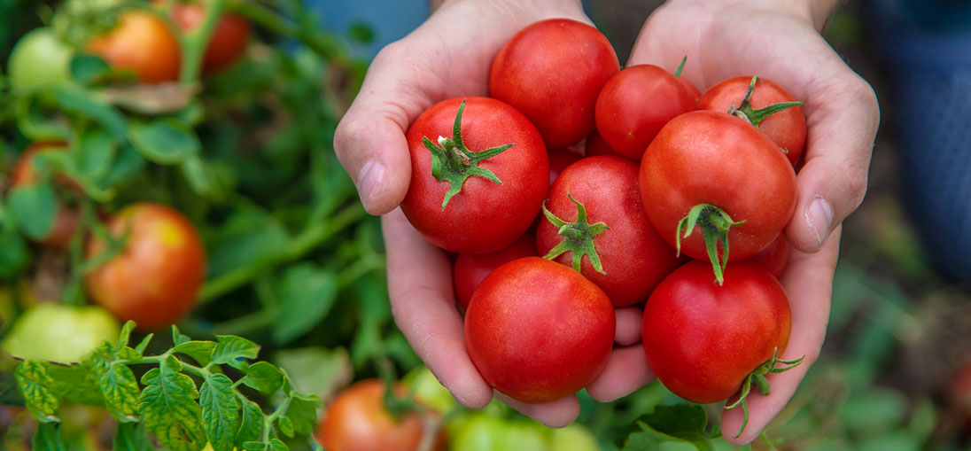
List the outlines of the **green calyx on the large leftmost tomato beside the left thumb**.
{"label": "green calyx on the large leftmost tomato beside the left thumb", "polygon": [[449,182],[449,192],[442,201],[442,210],[449,204],[452,196],[462,191],[465,180],[477,175],[489,181],[502,185],[492,171],[479,167],[479,163],[486,158],[497,156],[507,149],[516,146],[514,143],[486,149],[482,152],[472,152],[462,142],[462,112],[465,110],[465,100],[458,106],[455,123],[452,126],[452,138],[438,137],[438,144],[428,137],[422,136],[421,143],[431,153],[431,175],[440,182]]}

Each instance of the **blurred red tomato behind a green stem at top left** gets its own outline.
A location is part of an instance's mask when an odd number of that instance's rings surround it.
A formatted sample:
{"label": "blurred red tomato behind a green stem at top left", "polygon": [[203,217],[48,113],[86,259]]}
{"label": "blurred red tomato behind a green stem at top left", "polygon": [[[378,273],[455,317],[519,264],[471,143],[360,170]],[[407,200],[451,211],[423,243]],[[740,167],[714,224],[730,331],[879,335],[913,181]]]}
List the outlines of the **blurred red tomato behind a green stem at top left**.
{"label": "blurred red tomato behind a green stem at top left", "polygon": [[[172,18],[184,31],[192,31],[206,18],[206,7],[198,3],[176,2]],[[246,51],[249,40],[249,20],[231,13],[222,15],[206,45],[206,54],[202,58],[203,70],[217,72],[231,66]]]}

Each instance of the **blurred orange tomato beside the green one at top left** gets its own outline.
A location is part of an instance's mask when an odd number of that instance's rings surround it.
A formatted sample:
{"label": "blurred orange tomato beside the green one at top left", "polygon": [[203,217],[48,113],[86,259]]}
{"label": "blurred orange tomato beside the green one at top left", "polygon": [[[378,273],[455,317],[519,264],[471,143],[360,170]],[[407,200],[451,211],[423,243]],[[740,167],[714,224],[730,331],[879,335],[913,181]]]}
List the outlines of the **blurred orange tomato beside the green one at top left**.
{"label": "blurred orange tomato beside the green one at top left", "polygon": [[142,83],[179,77],[179,42],[161,18],[146,11],[125,12],[115,29],[88,41],[85,50],[116,68],[134,71]]}

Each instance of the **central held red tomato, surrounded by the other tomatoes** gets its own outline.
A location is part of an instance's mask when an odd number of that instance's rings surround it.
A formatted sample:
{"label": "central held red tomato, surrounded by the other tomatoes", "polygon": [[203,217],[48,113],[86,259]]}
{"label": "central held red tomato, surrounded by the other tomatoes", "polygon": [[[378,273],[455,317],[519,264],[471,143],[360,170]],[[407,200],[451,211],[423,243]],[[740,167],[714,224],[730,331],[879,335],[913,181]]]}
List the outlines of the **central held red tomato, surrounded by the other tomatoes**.
{"label": "central held red tomato, surrounded by the other tomatoes", "polygon": [[[581,272],[607,296],[616,307],[636,304],[648,298],[653,288],[680,262],[677,253],[664,241],[648,220],[637,189],[637,163],[618,156],[590,156],[571,165],[550,189],[547,209],[560,220],[576,223],[578,207],[569,193],[586,210],[586,223],[603,222],[608,229],[588,237],[603,265],[598,272],[590,256],[582,258]],[[581,225],[582,226],[582,225]],[[541,255],[549,253],[561,241],[560,227],[544,221],[536,232],[536,246]],[[555,260],[571,265],[581,253],[567,251]]]}

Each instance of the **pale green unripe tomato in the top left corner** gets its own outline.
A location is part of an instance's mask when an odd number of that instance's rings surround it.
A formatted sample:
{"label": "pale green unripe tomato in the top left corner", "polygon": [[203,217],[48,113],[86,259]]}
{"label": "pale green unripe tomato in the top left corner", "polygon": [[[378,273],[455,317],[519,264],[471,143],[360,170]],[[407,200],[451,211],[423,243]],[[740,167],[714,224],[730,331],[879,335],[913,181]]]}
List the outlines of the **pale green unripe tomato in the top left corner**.
{"label": "pale green unripe tomato in the top left corner", "polygon": [[31,30],[23,35],[7,60],[10,85],[16,91],[63,83],[71,79],[74,50],[50,28]]}

